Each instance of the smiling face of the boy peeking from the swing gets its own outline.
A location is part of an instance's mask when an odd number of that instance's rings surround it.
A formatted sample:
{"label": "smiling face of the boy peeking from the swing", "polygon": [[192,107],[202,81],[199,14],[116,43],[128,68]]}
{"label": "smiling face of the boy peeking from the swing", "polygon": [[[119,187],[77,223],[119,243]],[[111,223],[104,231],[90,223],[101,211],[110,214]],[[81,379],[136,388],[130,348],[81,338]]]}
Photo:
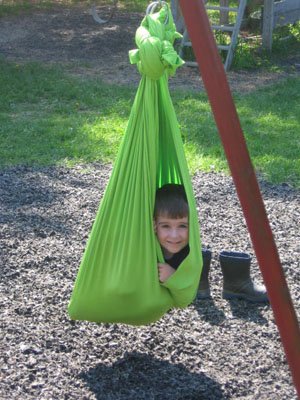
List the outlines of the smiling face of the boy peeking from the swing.
{"label": "smiling face of the boy peeking from the swing", "polygon": [[189,242],[188,217],[174,219],[159,215],[154,220],[154,229],[164,255],[167,257],[178,253]]}

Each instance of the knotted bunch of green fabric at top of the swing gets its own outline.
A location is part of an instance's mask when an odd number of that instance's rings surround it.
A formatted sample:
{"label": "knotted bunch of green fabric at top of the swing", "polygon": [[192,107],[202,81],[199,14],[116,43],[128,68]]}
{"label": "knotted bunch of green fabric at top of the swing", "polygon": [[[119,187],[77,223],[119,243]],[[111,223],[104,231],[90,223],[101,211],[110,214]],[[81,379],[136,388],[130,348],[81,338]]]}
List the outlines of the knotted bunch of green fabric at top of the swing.
{"label": "knotted bunch of green fabric at top of the swing", "polygon": [[165,73],[174,75],[176,69],[184,64],[173,47],[174,40],[181,37],[176,32],[169,6],[146,15],[135,35],[138,49],[129,51],[131,64],[137,64],[141,75],[151,79],[157,80]]}

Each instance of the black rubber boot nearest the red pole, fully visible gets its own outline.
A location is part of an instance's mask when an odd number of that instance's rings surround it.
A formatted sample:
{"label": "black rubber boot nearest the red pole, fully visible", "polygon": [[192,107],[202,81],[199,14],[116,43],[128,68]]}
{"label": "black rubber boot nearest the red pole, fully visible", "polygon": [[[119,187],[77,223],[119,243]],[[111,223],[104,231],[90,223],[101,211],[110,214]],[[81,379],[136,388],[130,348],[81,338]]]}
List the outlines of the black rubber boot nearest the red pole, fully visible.
{"label": "black rubber boot nearest the red pole, fully visible", "polygon": [[224,299],[244,299],[253,303],[269,301],[265,286],[257,285],[250,277],[249,254],[222,251],[219,259],[223,273]]}

